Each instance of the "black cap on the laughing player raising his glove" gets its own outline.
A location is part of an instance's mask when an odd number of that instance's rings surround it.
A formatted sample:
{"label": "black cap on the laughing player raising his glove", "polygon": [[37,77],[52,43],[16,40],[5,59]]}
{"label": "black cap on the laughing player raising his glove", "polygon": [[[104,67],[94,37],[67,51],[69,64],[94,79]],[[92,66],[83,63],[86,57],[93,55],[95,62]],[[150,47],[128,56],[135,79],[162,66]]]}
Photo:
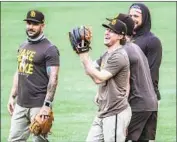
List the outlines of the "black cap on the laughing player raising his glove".
{"label": "black cap on the laughing player raising his glove", "polygon": [[117,34],[127,34],[126,24],[119,19],[112,19],[109,24],[102,24],[102,26],[113,30]]}

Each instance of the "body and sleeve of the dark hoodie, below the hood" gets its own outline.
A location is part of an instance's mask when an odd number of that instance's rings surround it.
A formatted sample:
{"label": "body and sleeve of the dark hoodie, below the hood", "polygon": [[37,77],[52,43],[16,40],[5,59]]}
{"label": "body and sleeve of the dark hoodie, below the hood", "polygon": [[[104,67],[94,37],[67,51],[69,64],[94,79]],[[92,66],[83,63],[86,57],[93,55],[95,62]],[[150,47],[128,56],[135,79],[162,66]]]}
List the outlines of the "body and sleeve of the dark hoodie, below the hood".
{"label": "body and sleeve of the dark hoodie, below the hood", "polygon": [[134,43],[137,44],[146,55],[151,72],[151,78],[158,100],[161,99],[159,91],[159,68],[162,60],[162,45],[158,37],[153,33],[147,32],[134,37]]}

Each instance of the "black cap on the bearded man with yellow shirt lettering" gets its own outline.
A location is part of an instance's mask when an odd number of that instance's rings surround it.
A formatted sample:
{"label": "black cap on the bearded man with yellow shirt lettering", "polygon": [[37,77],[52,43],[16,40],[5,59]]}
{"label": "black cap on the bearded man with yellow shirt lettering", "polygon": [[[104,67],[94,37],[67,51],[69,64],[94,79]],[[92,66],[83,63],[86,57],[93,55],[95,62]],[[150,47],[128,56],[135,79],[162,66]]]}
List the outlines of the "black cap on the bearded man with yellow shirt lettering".
{"label": "black cap on the bearded man with yellow shirt lettering", "polygon": [[37,10],[30,10],[23,21],[33,21],[36,23],[44,23],[44,14]]}

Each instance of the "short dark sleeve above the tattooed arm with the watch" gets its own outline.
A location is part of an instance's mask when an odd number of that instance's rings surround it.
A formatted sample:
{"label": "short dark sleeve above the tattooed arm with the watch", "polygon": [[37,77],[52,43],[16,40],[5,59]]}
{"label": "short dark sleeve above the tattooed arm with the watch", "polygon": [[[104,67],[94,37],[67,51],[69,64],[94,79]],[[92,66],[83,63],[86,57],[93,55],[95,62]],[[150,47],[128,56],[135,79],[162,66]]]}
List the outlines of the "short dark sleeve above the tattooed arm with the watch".
{"label": "short dark sleeve above the tattooed arm with the watch", "polygon": [[57,47],[51,46],[47,49],[45,54],[46,66],[59,66],[60,53]]}

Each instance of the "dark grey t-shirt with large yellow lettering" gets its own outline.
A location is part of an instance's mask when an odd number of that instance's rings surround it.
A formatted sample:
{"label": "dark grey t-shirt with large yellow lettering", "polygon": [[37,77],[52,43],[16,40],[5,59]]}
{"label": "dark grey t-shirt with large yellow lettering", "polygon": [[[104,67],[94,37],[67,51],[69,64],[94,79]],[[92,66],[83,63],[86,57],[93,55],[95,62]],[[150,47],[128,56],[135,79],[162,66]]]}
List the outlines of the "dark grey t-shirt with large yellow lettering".
{"label": "dark grey t-shirt with large yellow lettering", "polygon": [[41,107],[47,93],[48,66],[59,66],[59,50],[44,38],[26,41],[18,50],[18,98],[22,107]]}

